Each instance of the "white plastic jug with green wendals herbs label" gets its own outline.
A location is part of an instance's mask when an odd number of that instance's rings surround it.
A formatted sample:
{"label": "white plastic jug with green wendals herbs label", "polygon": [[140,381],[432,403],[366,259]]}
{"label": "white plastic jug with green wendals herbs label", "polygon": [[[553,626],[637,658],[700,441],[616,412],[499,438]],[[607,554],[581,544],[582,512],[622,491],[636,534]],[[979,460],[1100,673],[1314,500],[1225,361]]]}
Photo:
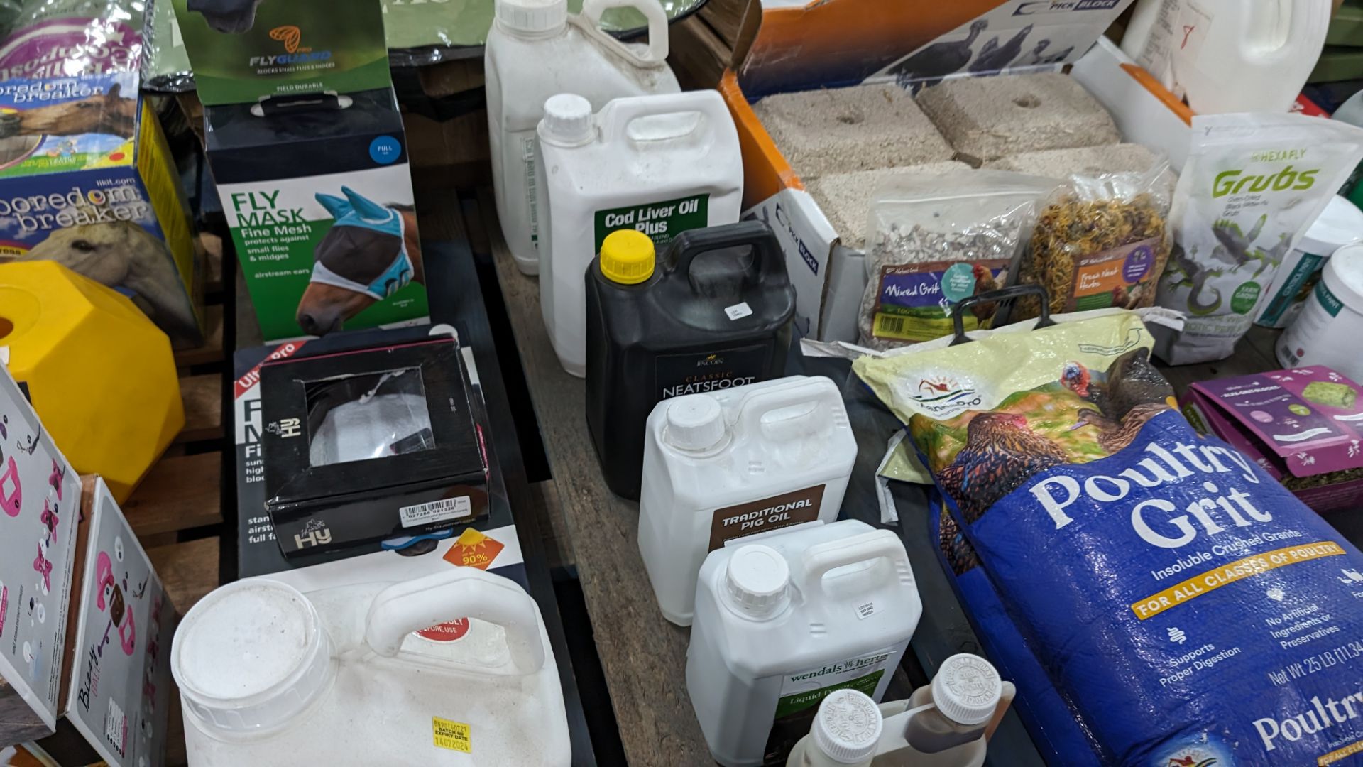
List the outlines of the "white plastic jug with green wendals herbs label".
{"label": "white plastic jug with green wendals herbs label", "polygon": [[785,756],[834,689],[879,700],[923,614],[898,535],[857,520],[711,551],[696,581],[686,681],[725,767]]}

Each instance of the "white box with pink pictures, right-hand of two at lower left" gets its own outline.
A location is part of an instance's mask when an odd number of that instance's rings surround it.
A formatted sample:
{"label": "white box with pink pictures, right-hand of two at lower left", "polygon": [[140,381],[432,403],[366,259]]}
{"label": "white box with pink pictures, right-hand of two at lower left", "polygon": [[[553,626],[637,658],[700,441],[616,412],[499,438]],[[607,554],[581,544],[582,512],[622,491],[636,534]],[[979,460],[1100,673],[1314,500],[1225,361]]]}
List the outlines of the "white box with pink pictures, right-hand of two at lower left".
{"label": "white box with pink pictures, right-hand of two at lower left", "polygon": [[165,763],[174,607],[104,479],[86,476],[82,489],[80,513],[70,520],[79,527],[78,577],[67,618],[63,718],[38,745],[59,764],[158,767]]}

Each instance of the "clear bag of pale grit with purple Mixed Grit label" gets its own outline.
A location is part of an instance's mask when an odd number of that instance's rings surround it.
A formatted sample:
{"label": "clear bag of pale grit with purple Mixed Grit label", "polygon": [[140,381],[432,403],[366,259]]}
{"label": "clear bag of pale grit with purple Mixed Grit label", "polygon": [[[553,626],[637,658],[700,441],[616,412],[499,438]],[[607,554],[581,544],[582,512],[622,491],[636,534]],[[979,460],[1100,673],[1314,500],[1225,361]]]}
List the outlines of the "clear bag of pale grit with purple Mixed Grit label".
{"label": "clear bag of pale grit with purple Mixed Grit label", "polygon": [[[1005,287],[1036,203],[1055,182],[1006,171],[901,175],[883,182],[867,228],[861,344],[890,349],[951,333],[951,307]],[[976,304],[966,329],[988,328],[995,304]]]}

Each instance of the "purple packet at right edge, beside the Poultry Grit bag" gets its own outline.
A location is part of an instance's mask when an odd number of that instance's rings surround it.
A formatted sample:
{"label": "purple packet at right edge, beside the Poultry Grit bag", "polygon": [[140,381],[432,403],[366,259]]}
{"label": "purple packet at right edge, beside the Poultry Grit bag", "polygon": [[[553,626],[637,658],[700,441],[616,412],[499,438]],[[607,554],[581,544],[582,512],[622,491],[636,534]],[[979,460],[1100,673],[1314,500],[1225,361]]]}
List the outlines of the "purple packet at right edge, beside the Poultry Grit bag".
{"label": "purple packet at right edge, beside the Poultry Grit bag", "polygon": [[1183,415],[1317,512],[1363,510],[1363,386],[1325,366],[1194,384]]}

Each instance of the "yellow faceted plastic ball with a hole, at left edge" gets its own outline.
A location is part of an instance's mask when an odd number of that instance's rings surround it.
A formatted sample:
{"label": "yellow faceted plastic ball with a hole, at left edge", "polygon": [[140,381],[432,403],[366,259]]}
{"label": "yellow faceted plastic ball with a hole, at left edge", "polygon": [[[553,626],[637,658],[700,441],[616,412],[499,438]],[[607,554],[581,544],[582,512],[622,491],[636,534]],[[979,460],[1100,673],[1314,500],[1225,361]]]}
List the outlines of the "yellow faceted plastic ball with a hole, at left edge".
{"label": "yellow faceted plastic ball with a hole, at left edge", "polygon": [[119,502],[184,427],[166,334],[127,296],[60,263],[0,263],[0,347],[52,439]]}

